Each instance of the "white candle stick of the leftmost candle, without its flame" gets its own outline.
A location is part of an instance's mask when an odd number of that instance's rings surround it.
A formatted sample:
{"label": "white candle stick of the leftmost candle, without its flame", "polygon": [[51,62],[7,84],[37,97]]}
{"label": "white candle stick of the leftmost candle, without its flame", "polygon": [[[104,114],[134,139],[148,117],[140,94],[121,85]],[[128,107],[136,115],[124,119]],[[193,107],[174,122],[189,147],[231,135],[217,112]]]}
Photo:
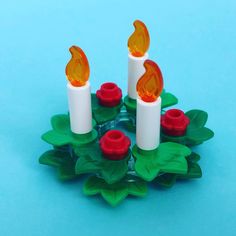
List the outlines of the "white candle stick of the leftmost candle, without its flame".
{"label": "white candle stick of the leftmost candle, without its flame", "polygon": [[92,131],[91,88],[87,81],[84,86],[67,84],[70,126],[75,134]]}

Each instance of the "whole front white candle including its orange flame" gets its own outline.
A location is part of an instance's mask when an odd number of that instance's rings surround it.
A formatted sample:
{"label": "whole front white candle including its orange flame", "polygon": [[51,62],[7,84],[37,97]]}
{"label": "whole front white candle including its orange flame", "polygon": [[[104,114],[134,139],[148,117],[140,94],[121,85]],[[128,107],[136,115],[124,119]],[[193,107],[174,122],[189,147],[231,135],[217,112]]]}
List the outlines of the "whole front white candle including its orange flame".
{"label": "whole front white candle including its orange flame", "polygon": [[138,80],[136,111],[136,144],[145,151],[156,149],[160,144],[162,73],[151,60],[144,62],[145,73]]}

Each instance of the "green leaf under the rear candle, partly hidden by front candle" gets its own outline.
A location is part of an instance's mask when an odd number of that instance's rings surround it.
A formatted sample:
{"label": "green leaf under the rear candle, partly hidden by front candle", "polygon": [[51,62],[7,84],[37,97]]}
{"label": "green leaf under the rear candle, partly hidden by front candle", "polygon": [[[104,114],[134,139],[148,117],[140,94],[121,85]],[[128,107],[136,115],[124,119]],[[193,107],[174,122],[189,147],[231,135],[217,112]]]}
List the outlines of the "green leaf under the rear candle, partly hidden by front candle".
{"label": "green leaf under the rear candle, partly hidden by front candle", "polygon": [[[165,90],[161,93],[161,108],[173,106],[178,103],[178,99],[171,93],[167,93]],[[124,98],[124,104],[128,112],[136,114],[137,103],[135,99],[131,99],[129,96]]]}

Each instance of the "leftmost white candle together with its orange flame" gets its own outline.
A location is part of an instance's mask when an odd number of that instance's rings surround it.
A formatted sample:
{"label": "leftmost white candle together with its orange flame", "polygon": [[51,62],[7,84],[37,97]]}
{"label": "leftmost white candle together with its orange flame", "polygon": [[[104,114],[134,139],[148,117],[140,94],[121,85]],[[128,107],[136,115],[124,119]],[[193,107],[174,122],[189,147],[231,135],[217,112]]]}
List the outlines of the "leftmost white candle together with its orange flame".
{"label": "leftmost white candle together with its orange flame", "polygon": [[66,66],[70,127],[75,134],[87,134],[93,129],[89,63],[81,48],[72,46],[70,52]]}

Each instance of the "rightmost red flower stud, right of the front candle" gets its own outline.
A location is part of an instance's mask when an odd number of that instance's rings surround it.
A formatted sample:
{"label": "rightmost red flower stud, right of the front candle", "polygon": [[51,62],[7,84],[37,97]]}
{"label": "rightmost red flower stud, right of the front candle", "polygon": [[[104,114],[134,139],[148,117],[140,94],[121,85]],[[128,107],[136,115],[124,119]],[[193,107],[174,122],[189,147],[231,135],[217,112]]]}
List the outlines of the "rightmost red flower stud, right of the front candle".
{"label": "rightmost red flower stud, right of the front candle", "polygon": [[189,122],[189,118],[183,111],[171,109],[161,117],[162,131],[169,136],[183,136],[186,133]]}

